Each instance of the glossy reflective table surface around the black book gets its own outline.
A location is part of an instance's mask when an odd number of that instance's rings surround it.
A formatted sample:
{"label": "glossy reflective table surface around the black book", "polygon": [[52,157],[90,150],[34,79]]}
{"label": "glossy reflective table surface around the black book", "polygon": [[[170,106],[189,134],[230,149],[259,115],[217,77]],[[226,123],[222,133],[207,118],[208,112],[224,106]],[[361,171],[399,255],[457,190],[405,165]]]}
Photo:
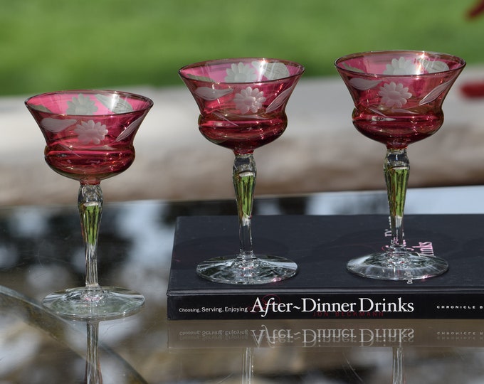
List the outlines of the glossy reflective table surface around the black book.
{"label": "glossy reflective table surface around the black book", "polygon": [[[483,196],[481,186],[410,189],[406,213],[484,213]],[[176,218],[236,220],[233,201],[105,203],[100,284],[142,292],[146,304],[123,319],[61,319],[40,303],[84,284],[76,209],[0,208],[1,384],[484,383],[484,320],[167,321]],[[342,192],[258,198],[255,214],[387,209],[383,191]]]}

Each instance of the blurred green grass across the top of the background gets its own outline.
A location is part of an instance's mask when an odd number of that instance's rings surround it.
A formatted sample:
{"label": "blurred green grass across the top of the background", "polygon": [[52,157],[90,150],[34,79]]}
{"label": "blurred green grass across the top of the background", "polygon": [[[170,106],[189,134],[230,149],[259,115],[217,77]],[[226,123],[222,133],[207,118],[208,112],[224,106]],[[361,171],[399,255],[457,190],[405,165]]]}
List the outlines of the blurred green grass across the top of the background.
{"label": "blurred green grass across the top of the background", "polygon": [[484,63],[476,0],[0,0],[0,95],[181,85],[211,58],[296,60],[335,75],[356,51],[421,49]]}

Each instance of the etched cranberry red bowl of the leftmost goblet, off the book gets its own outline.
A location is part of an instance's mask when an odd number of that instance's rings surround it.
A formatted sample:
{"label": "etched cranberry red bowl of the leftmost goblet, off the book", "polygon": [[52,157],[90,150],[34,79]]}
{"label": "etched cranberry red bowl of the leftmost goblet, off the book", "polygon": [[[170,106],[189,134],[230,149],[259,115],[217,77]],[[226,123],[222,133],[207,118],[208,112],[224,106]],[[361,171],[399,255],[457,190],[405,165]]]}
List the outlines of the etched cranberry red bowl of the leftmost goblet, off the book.
{"label": "etched cranberry red bowl of the leftmost goblet, off the book", "polygon": [[140,102],[122,92],[55,94],[60,95],[61,102],[39,96],[29,106],[46,138],[46,161],[54,171],[82,183],[99,183],[127,169],[135,159],[133,140],[144,118],[137,112]]}

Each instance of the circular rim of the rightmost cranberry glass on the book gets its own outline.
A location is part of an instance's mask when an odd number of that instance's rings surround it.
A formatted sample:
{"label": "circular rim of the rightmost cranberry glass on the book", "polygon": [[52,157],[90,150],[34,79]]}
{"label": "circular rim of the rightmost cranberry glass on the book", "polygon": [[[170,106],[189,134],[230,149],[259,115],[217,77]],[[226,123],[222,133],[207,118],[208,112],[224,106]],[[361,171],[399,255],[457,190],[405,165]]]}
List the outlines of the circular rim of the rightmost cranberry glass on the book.
{"label": "circular rim of the rightmost cranberry glass on the book", "polygon": [[[411,75],[384,75],[383,73],[371,73],[371,72],[365,72],[365,73],[362,73],[362,72],[357,72],[355,70],[351,70],[351,69],[348,69],[348,68],[344,68],[342,67],[342,65],[340,65],[341,63],[343,63],[344,61],[346,60],[349,60],[349,59],[352,59],[352,58],[359,58],[359,57],[363,57],[363,56],[369,56],[369,55],[388,55],[388,54],[391,54],[391,53],[413,53],[413,54],[420,54],[420,55],[429,55],[429,56],[435,56],[435,57],[441,57],[441,58],[449,58],[451,60],[454,60],[456,61],[456,63],[458,63],[458,67],[456,68],[452,68],[452,69],[449,69],[449,70],[441,70],[441,71],[438,71],[438,72],[433,72],[433,73],[416,73],[416,74],[411,74]],[[402,77],[405,77],[405,78],[412,78],[412,77],[422,77],[422,76],[435,76],[435,75],[438,75],[439,73],[448,73],[448,72],[455,72],[457,70],[462,70],[464,67],[465,67],[466,63],[465,63],[465,60],[463,58],[460,58],[459,56],[456,56],[456,55],[451,55],[449,53],[441,53],[441,52],[435,52],[435,51],[432,51],[432,50],[409,50],[409,49],[397,49],[397,50],[367,50],[367,51],[364,51],[364,52],[357,52],[357,53],[350,53],[349,55],[344,55],[340,58],[337,58],[335,60],[335,67],[338,69],[338,70],[343,70],[345,72],[348,72],[348,73],[355,73],[357,75],[367,75],[367,76],[371,76],[371,77],[388,77],[388,78],[402,78]]]}

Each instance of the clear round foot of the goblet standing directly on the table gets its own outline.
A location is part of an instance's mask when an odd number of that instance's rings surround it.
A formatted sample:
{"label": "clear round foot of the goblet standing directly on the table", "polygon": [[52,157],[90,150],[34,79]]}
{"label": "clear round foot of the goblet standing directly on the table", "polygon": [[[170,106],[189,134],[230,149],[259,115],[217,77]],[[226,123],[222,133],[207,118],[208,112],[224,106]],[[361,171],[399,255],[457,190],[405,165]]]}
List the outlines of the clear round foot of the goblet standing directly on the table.
{"label": "clear round foot of the goblet standing directly on the table", "polygon": [[43,299],[42,304],[70,319],[108,320],[139,311],[144,304],[144,297],[119,287],[102,287],[98,290],[78,287],[53,292]]}

